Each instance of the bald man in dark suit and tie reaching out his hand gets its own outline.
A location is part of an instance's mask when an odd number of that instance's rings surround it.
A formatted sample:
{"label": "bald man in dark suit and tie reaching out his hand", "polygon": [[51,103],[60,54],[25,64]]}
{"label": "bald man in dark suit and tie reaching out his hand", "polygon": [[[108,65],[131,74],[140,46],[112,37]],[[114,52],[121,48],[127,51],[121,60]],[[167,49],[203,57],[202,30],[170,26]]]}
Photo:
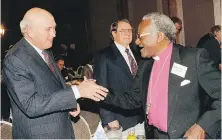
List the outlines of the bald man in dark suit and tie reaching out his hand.
{"label": "bald man in dark suit and tie reaching out his hand", "polygon": [[46,10],[28,10],[20,23],[22,38],[8,52],[3,78],[11,100],[14,139],[71,139],[69,119],[79,113],[80,97],[103,100],[106,89],[85,80],[67,87],[56,67],[52,47],[56,23]]}

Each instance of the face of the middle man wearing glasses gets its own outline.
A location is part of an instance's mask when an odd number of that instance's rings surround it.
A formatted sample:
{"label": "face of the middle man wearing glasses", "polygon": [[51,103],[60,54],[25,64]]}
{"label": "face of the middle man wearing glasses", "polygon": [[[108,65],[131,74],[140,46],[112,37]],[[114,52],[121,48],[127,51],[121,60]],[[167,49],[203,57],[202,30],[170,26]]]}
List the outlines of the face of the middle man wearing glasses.
{"label": "face of the middle man wearing glasses", "polygon": [[132,27],[129,23],[119,22],[118,29],[113,32],[114,41],[127,47],[132,42]]}

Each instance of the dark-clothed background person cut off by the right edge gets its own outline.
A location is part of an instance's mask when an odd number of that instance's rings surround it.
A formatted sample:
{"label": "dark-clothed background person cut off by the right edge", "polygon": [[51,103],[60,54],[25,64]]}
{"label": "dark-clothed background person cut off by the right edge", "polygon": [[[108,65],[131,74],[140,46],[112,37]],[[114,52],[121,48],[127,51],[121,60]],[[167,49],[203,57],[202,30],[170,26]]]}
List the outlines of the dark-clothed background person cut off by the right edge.
{"label": "dark-clothed background person cut off by the right edge", "polygon": [[220,69],[221,64],[221,26],[216,25],[211,28],[211,33],[209,33],[209,37],[203,43],[201,40],[199,41],[199,48],[205,48],[209,54],[211,59],[215,62],[216,66]]}

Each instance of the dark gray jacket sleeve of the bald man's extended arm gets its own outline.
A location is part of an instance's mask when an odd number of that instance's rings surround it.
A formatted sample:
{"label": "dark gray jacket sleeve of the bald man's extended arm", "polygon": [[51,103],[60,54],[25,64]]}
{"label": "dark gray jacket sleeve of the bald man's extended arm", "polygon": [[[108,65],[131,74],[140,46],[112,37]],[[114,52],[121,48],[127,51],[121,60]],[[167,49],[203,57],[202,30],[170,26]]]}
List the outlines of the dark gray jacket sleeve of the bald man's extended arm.
{"label": "dark gray jacket sleeve of the bald man's extended arm", "polygon": [[36,88],[40,87],[36,85],[41,83],[36,83],[24,62],[14,55],[5,58],[3,78],[13,102],[29,117],[38,117],[77,106],[71,88],[51,93],[45,90],[39,93]]}

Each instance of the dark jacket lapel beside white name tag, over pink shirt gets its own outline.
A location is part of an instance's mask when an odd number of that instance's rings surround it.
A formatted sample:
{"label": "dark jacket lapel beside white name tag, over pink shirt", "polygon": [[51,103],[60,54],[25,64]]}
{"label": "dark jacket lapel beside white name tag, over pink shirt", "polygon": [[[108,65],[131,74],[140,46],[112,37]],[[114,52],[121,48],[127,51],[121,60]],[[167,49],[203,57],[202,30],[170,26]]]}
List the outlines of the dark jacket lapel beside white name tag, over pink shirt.
{"label": "dark jacket lapel beside white name tag, over pink shirt", "polygon": [[170,70],[169,70],[169,81],[168,81],[168,129],[170,126],[170,122],[173,118],[173,114],[175,111],[175,107],[177,106],[178,102],[178,92],[180,89],[180,81],[181,77],[171,73],[171,69],[173,63],[181,63],[180,56],[179,56],[179,48],[173,46],[170,62]]}

